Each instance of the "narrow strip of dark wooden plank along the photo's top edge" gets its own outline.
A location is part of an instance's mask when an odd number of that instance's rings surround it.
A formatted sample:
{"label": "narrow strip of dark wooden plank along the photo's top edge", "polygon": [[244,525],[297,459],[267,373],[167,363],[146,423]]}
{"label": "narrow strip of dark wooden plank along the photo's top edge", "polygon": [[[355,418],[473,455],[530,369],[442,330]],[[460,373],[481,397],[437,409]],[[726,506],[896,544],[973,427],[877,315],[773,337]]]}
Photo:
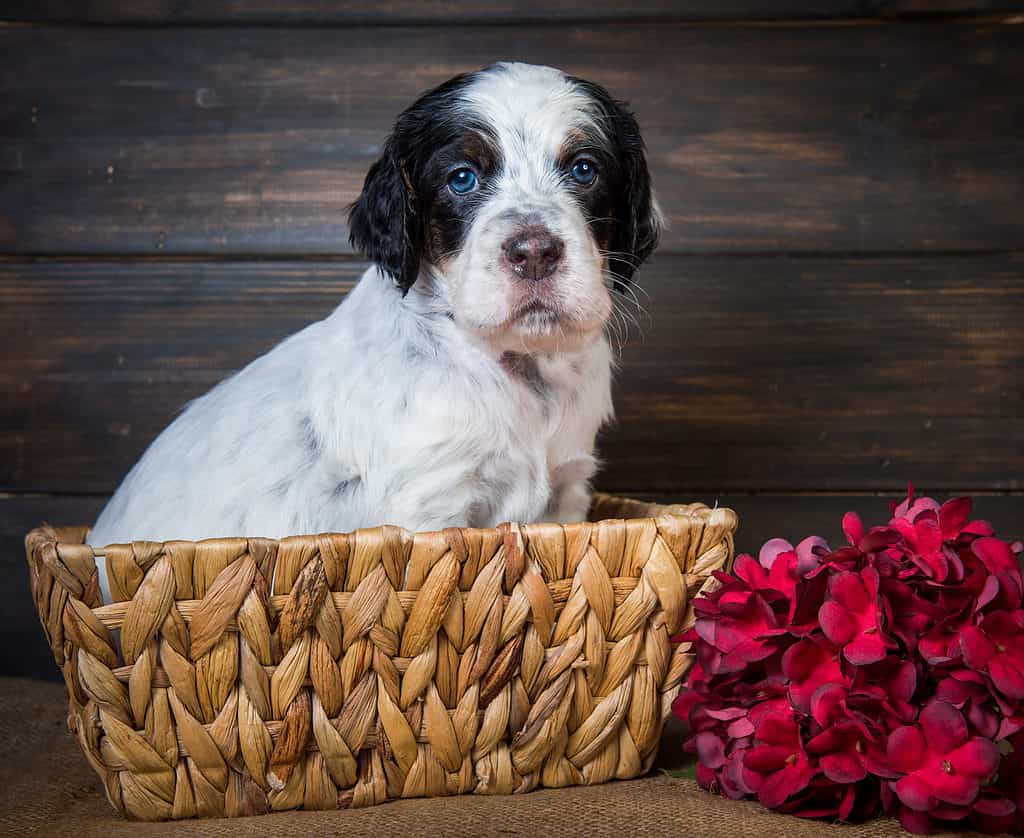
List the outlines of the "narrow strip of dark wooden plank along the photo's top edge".
{"label": "narrow strip of dark wooden plank along the photo's top edge", "polygon": [[963,14],[1021,8],[999,0],[8,0],[8,20],[88,24],[466,24],[537,20],[778,20]]}

